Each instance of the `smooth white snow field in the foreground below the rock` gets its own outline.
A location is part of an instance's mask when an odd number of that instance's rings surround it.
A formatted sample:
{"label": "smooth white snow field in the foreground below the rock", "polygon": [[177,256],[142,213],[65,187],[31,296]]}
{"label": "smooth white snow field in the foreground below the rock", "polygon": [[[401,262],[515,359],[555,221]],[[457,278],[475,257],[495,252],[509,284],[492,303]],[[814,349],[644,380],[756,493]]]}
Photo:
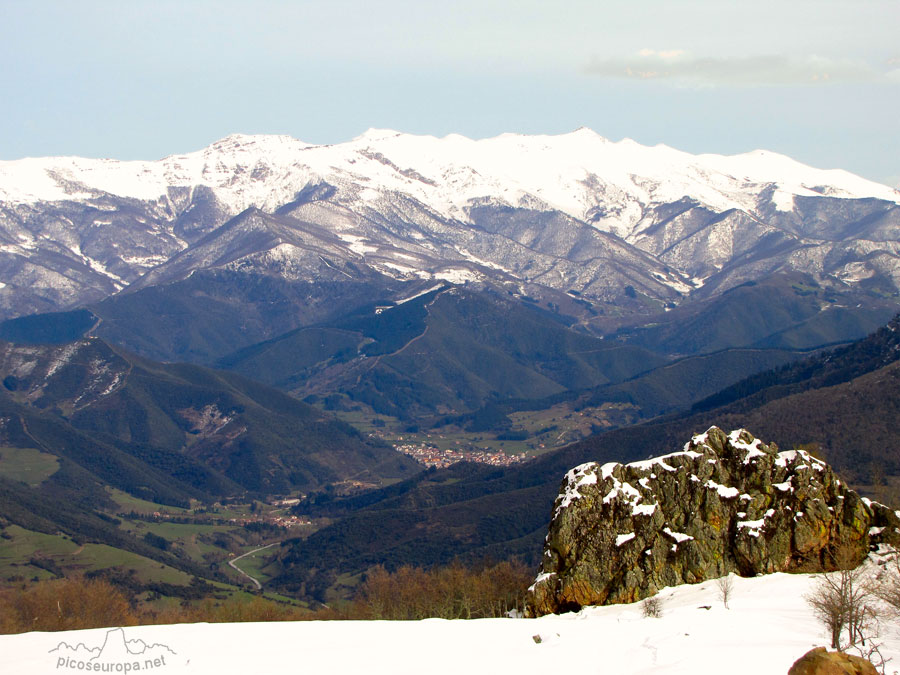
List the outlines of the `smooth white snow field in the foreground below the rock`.
{"label": "smooth white snow field in the foreground below the rock", "polygon": [[[160,643],[176,653],[155,667],[141,655],[128,657],[140,666],[137,670],[160,675],[787,673],[806,651],[828,645],[824,627],[803,597],[813,583],[807,575],[735,578],[730,609],[722,605],[713,581],[668,588],[658,596],[663,611],[656,619],[643,617],[636,603],[533,620],[188,624],[124,632],[127,640]],[[50,650],[61,642],[99,647],[107,632],[0,636],[0,672],[86,672],[59,665],[60,652]],[[900,670],[897,625],[884,622],[878,641],[884,656],[893,659],[887,672]]]}

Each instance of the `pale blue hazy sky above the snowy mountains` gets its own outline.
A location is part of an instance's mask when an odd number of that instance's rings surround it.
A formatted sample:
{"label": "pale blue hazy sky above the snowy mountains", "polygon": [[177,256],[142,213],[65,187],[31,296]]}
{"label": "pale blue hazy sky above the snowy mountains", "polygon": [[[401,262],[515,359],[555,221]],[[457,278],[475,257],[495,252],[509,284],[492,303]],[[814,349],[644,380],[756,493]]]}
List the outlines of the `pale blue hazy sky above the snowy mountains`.
{"label": "pale blue hazy sky above the snowy mountains", "polygon": [[898,0],[0,0],[0,159],[587,126],[900,184]]}

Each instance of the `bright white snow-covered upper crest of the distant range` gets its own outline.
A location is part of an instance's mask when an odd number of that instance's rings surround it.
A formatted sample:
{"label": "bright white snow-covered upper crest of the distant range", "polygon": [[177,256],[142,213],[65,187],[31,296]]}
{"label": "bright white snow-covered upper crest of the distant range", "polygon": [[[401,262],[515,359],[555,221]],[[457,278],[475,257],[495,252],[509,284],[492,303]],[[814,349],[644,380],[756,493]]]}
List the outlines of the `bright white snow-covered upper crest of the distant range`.
{"label": "bright white snow-covered upper crest of the distant range", "polygon": [[[369,129],[336,145],[284,135],[231,134],[197,152],[154,162],[7,161],[0,162],[0,200],[71,200],[94,191],[153,199],[169,187],[202,185],[216,190],[236,213],[290,201],[312,175],[332,184],[361,182],[405,193],[453,217],[472,200],[484,198],[509,203],[537,198],[579,219],[602,204],[606,212],[619,215],[597,226],[626,237],[634,232],[635,207],[643,210],[689,197],[715,211],[752,212],[767,185],[787,196],[876,197],[900,203],[900,192],[887,186],[845,171],[814,169],[769,151],[691,155],[627,138],[612,142],[587,127],[556,136],[508,133],[481,140]],[[73,185],[80,187],[73,191]],[[782,204],[789,201],[781,199]]]}

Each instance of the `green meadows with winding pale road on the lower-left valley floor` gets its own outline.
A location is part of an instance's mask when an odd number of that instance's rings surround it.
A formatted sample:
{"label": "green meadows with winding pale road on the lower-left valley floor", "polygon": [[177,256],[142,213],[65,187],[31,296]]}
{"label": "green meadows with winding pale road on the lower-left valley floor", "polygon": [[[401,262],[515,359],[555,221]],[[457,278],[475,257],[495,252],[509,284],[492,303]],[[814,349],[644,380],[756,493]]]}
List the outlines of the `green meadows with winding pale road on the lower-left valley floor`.
{"label": "green meadows with winding pale road on the lower-left valley floor", "polygon": [[[2,466],[0,476],[10,473]],[[101,511],[123,536],[167,554],[161,563],[152,553],[141,555],[123,548],[85,541],[78,534],[51,534],[8,525],[0,541],[0,583],[17,585],[62,576],[112,578],[149,608],[171,603],[226,600],[253,590],[242,572],[265,583],[277,574],[266,572],[272,562],[263,555],[244,558],[245,552],[262,553],[289,539],[303,538],[328,524],[328,519],[298,517],[290,506],[297,499],[214,502],[194,501],[185,508],[156,504],[110,490],[113,503]],[[233,564],[242,560],[240,567]],[[257,587],[257,590],[262,590]],[[306,607],[278,593],[264,593],[278,602]]]}

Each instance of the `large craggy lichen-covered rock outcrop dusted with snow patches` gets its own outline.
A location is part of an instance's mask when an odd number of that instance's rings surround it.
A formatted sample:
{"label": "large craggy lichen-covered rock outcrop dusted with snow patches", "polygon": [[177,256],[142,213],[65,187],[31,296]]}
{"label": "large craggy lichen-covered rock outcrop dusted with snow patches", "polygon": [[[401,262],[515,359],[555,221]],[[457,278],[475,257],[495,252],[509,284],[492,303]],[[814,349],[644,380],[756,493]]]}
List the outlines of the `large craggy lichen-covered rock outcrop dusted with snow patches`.
{"label": "large craggy lichen-covered rock outcrop dusted with snow patches", "polygon": [[829,569],[839,548],[861,561],[898,527],[808,453],[712,427],[681,452],[566,474],[530,611],[635,602],[729,572]]}

